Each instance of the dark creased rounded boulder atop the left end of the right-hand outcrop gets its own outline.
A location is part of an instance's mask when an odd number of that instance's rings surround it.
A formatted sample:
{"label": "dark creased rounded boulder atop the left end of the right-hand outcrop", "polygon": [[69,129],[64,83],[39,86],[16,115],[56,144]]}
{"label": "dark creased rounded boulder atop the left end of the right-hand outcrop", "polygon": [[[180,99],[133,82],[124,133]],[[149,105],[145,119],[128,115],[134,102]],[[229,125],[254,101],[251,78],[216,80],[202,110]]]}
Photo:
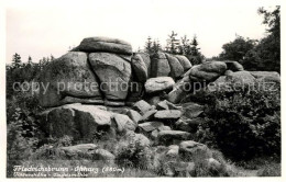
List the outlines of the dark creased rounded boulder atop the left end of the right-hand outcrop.
{"label": "dark creased rounded boulder atop the left end of the right-hand outcrop", "polygon": [[196,65],[185,73],[189,76],[191,81],[215,81],[227,70],[227,65],[222,61],[206,61]]}

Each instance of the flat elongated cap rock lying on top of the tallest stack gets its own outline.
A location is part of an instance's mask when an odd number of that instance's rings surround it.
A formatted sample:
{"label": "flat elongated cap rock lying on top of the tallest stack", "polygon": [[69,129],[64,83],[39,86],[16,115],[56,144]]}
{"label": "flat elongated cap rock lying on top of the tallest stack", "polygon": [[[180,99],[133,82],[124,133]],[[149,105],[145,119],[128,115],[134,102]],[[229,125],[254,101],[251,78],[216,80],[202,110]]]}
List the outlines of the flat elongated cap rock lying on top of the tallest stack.
{"label": "flat elongated cap rock lying on top of the tallest stack", "polygon": [[128,42],[109,37],[88,37],[84,38],[76,50],[95,53],[107,52],[132,55],[132,47]]}

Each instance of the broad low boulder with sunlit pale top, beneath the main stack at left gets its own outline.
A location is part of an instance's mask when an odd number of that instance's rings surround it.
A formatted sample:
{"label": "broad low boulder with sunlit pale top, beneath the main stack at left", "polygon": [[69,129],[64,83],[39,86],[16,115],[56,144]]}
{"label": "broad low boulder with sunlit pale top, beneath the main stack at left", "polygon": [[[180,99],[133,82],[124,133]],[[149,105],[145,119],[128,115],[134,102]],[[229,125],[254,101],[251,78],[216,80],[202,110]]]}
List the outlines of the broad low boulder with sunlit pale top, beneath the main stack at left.
{"label": "broad low boulder with sunlit pale top, beneath the main stack at left", "polygon": [[100,129],[110,128],[113,113],[102,106],[69,104],[41,114],[41,127],[52,137],[92,138]]}

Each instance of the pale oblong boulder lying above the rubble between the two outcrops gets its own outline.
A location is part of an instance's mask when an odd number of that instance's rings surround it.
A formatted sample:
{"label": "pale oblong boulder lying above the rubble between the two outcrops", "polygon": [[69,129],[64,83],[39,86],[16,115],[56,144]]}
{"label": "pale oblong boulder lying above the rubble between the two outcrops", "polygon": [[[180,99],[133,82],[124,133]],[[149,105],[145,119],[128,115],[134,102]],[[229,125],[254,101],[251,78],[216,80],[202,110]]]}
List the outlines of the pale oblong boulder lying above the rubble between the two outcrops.
{"label": "pale oblong boulder lying above the rubble between the two outcrops", "polygon": [[145,82],[145,90],[147,93],[169,90],[175,84],[175,81],[170,77],[157,77],[150,78]]}

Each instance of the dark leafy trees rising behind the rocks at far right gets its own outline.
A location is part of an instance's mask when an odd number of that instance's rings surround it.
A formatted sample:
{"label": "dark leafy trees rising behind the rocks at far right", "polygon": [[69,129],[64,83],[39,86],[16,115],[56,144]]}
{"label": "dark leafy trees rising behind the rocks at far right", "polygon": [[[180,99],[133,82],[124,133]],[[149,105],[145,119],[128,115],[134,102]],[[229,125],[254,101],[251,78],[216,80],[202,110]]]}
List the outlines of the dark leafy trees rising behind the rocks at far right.
{"label": "dark leafy trees rising behind the rocks at far right", "polygon": [[258,9],[264,15],[263,24],[267,35],[260,41],[237,36],[233,42],[222,46],[219,59],[240,61],[246,70],[280,72],[280,7],[273,11]]}

